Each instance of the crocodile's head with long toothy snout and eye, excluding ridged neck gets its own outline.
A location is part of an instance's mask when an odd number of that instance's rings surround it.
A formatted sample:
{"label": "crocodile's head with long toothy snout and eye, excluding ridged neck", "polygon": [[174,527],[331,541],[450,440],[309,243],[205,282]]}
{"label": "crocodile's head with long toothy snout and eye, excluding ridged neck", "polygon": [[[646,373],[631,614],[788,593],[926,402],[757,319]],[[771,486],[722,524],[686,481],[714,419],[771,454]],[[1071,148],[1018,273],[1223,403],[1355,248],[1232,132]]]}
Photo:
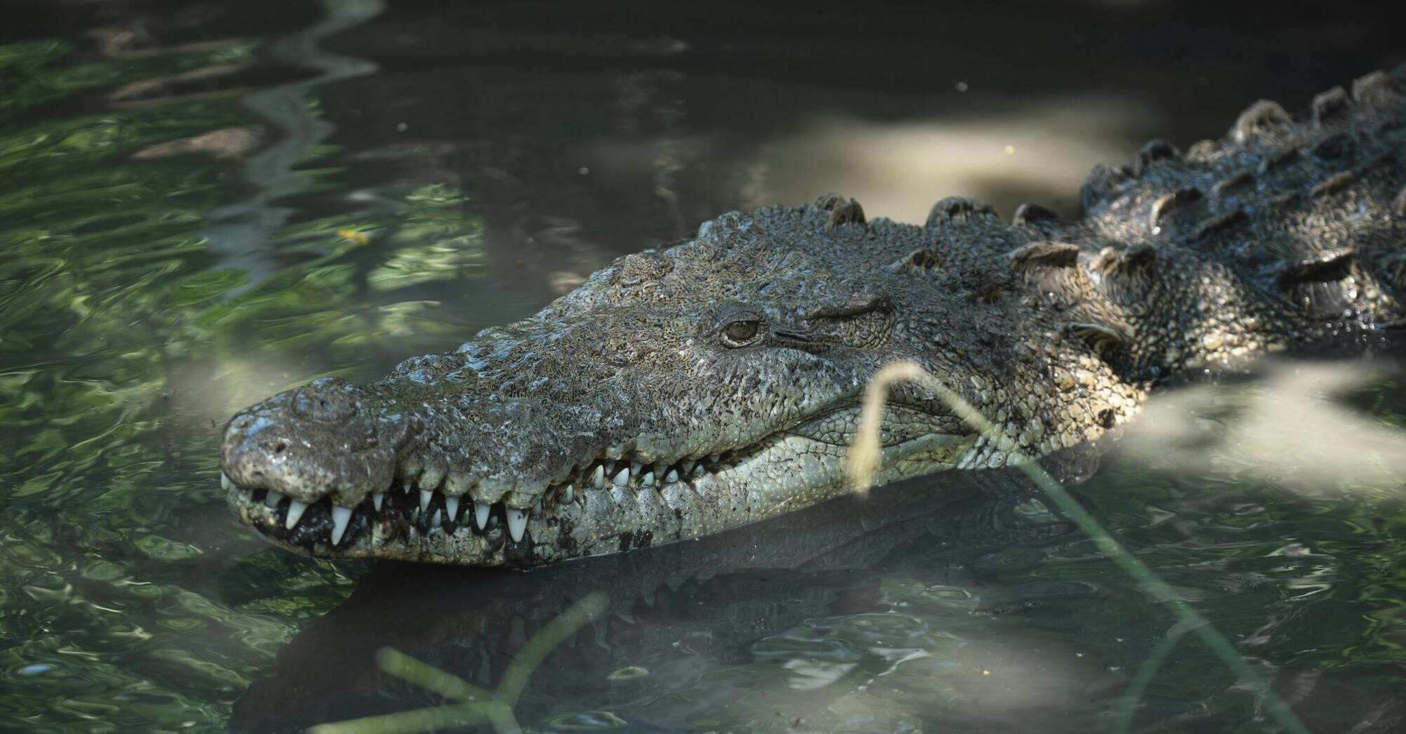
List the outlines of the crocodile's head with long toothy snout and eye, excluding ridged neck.
{"label": "crocodile's head with long toothy snout and eye, excluding ridged neck", "polygon": [[[1004,340],[1029,321],[1018,300],[938,274],[915,249],[941,229],[831,208],[724,215],[454,353],[254,405],[224,434],[231,508],[319,557],[531,565],[846,491],[865,385],[896,360],[1011,418],[1033,405],[1015,385],[1038,360]],[[915,385],[890,392],[880,436],[879,481],[1002,457]]]}

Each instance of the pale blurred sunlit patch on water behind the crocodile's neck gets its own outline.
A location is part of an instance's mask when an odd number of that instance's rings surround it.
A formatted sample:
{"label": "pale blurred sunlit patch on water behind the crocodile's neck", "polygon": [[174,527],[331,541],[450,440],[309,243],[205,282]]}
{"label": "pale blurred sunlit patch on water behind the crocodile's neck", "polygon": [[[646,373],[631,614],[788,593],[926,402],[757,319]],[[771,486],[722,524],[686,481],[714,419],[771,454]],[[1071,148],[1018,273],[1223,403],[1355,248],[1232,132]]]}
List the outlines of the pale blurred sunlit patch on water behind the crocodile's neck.
{"label": "pale blurred sunlit patch on water behind the crocodile's neck", "polygon": [[1128,131],[1149,114],[1123,100],[1087,98],[970,121],[820,117],[768,146],[754,165],[747,204],[801,202],[835,190],[856,198],[868,217],[900,222],[924,222],[948,195],[984,200],[1002,217],[1025,201],[1073,217],[1088,170],[1126,160],[1142,142]]}

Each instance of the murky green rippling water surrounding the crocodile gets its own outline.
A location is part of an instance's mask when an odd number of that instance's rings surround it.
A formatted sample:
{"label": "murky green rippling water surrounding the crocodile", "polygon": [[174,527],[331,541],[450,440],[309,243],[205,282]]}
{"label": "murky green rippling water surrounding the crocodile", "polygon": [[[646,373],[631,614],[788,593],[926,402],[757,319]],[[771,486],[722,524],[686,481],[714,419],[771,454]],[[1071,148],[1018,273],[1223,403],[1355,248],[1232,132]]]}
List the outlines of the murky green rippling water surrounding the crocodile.
{"label": "murky green rippling water surrounding the crocodile", "polygon": [[[0,728],[433,706],[374,650],[494,685],[603,589],[523,726],[1111,731],[1171,616],[1002,479],[533,574],[292,557],[218,491],[235,409],[451,349],[718,212],[831,188],[910,221],[952,193],[1067,212],[1143,138],[1403,51],[1371,6],[972,6],[7,4]],[[1168,398],[1076,491],[1313,731],[1399,731],[1406,388],[1329,389],[1344,370]],[[1135,730],[1264,714],[1188,637]]]}

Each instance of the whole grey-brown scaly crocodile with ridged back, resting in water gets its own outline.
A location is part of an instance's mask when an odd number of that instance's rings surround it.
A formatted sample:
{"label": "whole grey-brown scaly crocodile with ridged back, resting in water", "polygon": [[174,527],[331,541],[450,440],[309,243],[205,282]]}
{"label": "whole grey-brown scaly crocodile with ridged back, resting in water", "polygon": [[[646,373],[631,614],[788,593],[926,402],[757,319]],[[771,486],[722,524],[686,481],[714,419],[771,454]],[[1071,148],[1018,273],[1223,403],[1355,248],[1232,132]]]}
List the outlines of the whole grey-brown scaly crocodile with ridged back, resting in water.
{"label": "whole grey-brown scaly crocodile with ridged back, resting in water", "polygon": [[1406,323],[1403,183],[1406,65],[1097,166],[1071,221],[950,197],[920,226],[835,194],[724,214],[454,352],[239,412],[221,479],[239,520],[316,557],[623,551],[849,492],[866,384],[896,361],[1000,436],[893,385],[876,482],[1046,457],[1173,378],[1385,345]]}

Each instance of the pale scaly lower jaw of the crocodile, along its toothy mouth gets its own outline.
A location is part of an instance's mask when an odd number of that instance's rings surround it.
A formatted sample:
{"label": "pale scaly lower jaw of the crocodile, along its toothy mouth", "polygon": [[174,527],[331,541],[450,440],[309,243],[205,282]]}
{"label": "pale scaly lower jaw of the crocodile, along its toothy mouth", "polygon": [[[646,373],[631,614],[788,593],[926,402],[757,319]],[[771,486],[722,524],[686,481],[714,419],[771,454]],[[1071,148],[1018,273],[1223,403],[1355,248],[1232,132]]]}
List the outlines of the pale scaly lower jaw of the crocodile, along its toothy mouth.
{"label": "pale scaly lower jaw of the crocodile, along its toothy mouth", "polygon": [[[876,478],[952,468],[973,443],[974,436],[932,433],[886,446]],[[654,467],[624,463],[599,488],[593,482],[554,488],[527,512],[402,485],[336,516],[336,505],[326,499],[298,508],[277,492],[270,499],[270,492],[242,488],[224,475],[222,482],[236,517],[294,553],[530,567],[686,540],[823,502],[848,491],[844,451],[783,433],[745,454],[665,467],[662,477]],[[598,464],[602,474],[607,464],[616,463]],[[298,513],[291,529],[290,512]]]}

